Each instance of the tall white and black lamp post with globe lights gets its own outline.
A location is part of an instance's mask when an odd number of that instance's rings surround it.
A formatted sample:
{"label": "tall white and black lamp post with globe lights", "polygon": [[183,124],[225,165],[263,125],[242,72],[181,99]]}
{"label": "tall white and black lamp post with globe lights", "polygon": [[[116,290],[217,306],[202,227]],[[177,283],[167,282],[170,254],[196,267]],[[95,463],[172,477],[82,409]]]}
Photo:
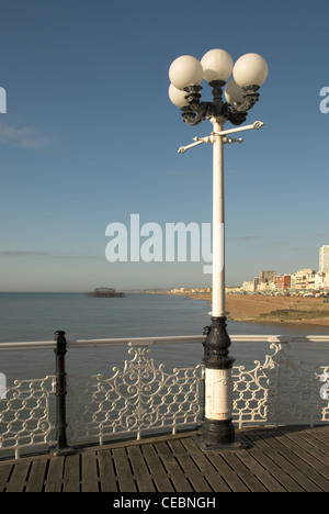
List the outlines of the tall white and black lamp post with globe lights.
{"label": "tall white and black lamp post with globe lights", "polygon": [[[200,445],[205,449],[236,447],[231,422],[235,359],[229,356],[225,309],[225,208],[224,208],[224,144],[239,142],[230,137],[236,132],[260,128],[254,122],[240,128],[224,131],[229,121],[240,125],[248,111],[259,100],[259,89],[268,77],[268,64],[259,54],[246,54],[234,64],[231,56],[219,48],[207,52],[201,59],[190,55],[177,58],[170,66],[169,98],[182,111],[183,122],[197,125],[204,120],[213,124],[207,137],[195,137],[193,144],[181,146],[179,153],[203,143],[213,144],[213,298],[212,325],[205,327],[205,418]],[[227,82],[229,77],[232,78]],[[213,101],[201,101],[201,82],[213,88]],[[227,83],[226,83],[227,82]],[[223,87],[225,99],[223,99]]]}

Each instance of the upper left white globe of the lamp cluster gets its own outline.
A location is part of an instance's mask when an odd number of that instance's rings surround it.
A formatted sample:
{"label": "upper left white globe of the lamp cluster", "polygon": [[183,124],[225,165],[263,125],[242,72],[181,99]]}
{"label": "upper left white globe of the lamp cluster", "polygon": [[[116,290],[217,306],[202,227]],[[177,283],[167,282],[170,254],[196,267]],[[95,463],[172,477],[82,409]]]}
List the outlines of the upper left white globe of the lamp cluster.
{"label": "upper left white globe of the lamp cluster", "polygon": [[196,57],[182,55],[171,64],[169,68],[169,79],[177,89],[184,89],[188,86],[198,86],[203,79],[203,67]]}

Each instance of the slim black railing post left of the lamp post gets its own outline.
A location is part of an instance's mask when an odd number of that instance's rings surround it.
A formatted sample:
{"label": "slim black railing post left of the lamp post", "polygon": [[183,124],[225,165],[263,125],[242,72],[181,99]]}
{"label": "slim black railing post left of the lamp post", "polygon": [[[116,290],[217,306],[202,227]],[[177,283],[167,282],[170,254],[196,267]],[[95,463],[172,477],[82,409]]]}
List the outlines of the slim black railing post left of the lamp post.
{"label": "slim black railing post left of the lamp post", "polygon": [[55,455],[75,454],[75,448],[68,446],[66,436],[66,369],[65,355],[67,353],[67,343],[65,332],[55,332],[56,340],[56,439],[57,445],[52,448]]}

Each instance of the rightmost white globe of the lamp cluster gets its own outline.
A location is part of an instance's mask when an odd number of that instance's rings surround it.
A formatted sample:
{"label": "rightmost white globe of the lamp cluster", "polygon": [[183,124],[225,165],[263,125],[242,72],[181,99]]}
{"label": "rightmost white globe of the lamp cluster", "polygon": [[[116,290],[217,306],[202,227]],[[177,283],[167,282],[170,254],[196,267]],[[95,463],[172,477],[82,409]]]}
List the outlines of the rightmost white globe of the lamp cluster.
{"label": "rightmost white globe of the lamp cluster", "polygon": [[269,66],[259,54],[246,54],[240,57],[234,67],[234,78],[238,86],[261,86],[268,77]]}

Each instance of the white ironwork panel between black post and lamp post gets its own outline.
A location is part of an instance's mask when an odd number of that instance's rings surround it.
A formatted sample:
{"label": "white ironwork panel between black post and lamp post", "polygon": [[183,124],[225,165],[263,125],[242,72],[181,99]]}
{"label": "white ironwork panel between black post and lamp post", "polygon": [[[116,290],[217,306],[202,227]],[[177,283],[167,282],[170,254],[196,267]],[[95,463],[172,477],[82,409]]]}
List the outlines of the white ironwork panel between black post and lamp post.
{"label": "white ironwork panel between black post and lamp post", "polygon": [[200,423],[203,415],[201,387],[203,367],[164,371],[148,359],[148,347],[131,346],[132,356],[124,369],[113,368],[114,375],[81,378],[69,377],[68,420],[71,444],[123,433],[141,433],[155,428],[177,427]]}

